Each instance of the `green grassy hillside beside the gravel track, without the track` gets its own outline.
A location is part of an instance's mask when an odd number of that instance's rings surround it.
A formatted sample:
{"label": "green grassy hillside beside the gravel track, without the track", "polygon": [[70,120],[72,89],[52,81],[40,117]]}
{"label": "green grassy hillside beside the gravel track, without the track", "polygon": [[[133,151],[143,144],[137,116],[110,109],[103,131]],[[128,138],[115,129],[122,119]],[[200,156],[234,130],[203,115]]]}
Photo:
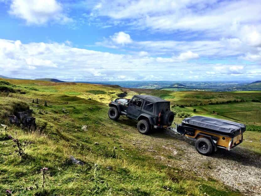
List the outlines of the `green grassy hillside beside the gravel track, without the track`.
{"label": "green grassy hillside beside the gravel track, without the track", "polygon": [[[9,83],[1,85],[15,91],[0,93],[0,123],[8,125],[7,130],[0,127],[0,195],[5,195],[7,189],[12,190],[13,195],[241,195],[211,177],[198,177],[191,171],[168,166],[156,159],[156,152],[164,159],[170,155],[165,155],[162,144],[153,144],[155,150],[150,150],[152,143],[148,140],[153,142],[155,136],[139,134],[135,121],[125,117],[117,122],[109,120],[107,104],[123,92],[127,97],[157,95],[170,100],[172,105],[244,99],[247,102],[196,106],[195,114],[211,115],[211,110],[215,109],[215,117],[233,117],[246,122],[243,115],[233,116],[226,112],[248,111],[246,120],[253,128],[246,134],[248,139],[253,137],[250,133],[260,137],[256,125],[261,122],[256,116],[260,116],[261,105],[250,101],[253,97],[260,99],[259,92],[170,92],[38,80],[5,81]],[[32,103],[37,98],[39,104]],[[214,106],[217,107],[212,108]],[[6,117],[9,114],[28,107],[36,117],[36,130],[8,124]],[[173,109],[193,113],[193,108],[175,106]],[[21,158],[14,152],[14,142],[8,135],[21,142],[31,142],[25,150],[26,156]],[[258,152],[257,144],[258,141],[253,140],[245,148]],[[82,161],[84,166],[73,164],[70,155]],[[179,160],[178,157],[171,159]],[[48,167],[44,188],[40,171],[43,167]]]}

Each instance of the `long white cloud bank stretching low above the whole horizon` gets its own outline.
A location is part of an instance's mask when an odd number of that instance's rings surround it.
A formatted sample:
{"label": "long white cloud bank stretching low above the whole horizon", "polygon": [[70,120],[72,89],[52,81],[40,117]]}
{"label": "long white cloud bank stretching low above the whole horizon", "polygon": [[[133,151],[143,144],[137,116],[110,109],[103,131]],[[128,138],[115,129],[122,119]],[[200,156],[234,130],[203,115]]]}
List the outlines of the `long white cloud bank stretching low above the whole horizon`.
{"label": "long white cloud bank stretching low above the whole horizon", "polygon": [[[214,74],[215,79],[228,75],[232,79],[238,75],[245,78],[251,76],[252,79],[260,77],[259,65],[188,63],[184,60],[197,55],[194,52],[181,54],[172,58],[157,58],[136,53],[98,52],[65,43],[24,44],[0,39],[1,75],[17,78],[56,78],[57,73],[59,79],[67,81],[211,79]],[[251,72],[253,70],[256,72]]]}

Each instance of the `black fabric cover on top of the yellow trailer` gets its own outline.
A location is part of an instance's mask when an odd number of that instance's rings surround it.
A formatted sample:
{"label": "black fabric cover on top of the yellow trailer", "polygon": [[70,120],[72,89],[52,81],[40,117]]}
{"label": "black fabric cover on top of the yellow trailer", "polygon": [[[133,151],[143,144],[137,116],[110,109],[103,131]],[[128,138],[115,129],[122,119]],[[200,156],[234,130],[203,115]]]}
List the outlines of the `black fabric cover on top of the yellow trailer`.
{"label": "black fabric cover on top of the yellow trailer", "polygon": [[203,116],[185,118],[182,125],[229,137],[234,137],[246,131],[246,125],[244,124]]}

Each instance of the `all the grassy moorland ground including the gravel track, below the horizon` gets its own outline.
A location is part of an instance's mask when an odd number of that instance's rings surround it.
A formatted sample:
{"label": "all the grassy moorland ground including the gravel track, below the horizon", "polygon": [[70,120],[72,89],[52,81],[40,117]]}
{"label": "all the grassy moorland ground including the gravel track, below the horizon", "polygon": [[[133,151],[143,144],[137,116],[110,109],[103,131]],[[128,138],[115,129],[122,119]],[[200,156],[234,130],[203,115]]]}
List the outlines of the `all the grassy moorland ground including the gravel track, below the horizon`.
{"label": "all the grassy moorland ground including the gravel track, below the horizon", "polygon": [[[260,91],[176,92],[116,84],[0,80],[0,123],[8,125],[0,134],[0,194],[7,189],[13,195],[261,193]],[[175,123],[182,121],[178,115],[184,113],[245,123],[244,142],[231,151],[206,157],[196,152],[192,142],[168,131],[141,135],[135,121],[108,118],[108,102],[122,94],[127,98],[147,94],[171,101],[177,114]],[[32,109],[37,129],[8,123],[7,115],[24,106]],[[14,152],[13,141],[6,134],[31,142],[26,157]],[[71,155],[84,166],[74,165]],[[43,167],[48,168],[44,189]]]}

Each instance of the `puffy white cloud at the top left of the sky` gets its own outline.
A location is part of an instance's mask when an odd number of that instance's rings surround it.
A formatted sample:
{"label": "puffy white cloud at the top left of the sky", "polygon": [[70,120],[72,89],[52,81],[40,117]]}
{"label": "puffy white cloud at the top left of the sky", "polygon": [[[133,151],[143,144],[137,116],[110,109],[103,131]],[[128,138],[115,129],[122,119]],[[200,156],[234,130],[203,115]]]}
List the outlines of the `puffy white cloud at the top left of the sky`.
{"label": "puffy white cloud at the top left of the sky", "polygon": [[24,19],[27,24],[46,24],[56,21],[61,24],[72,22],[63,13],[63,8],[56,0],[11,0],[9,14]]}

